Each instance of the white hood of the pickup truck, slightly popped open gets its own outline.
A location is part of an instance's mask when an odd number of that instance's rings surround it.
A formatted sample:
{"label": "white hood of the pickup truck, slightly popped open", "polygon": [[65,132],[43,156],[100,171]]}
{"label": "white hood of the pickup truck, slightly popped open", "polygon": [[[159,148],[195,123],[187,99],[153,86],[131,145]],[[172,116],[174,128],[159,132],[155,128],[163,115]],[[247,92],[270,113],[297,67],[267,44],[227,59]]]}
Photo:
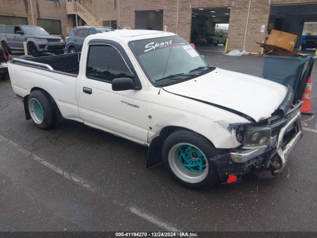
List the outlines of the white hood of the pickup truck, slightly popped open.
{"label": "white hood of the pickup truck, slightly popped open", "polygon": [[220,68],[164,89],[232,109],[256,121],[271,117],[287,94],[281,84]]}

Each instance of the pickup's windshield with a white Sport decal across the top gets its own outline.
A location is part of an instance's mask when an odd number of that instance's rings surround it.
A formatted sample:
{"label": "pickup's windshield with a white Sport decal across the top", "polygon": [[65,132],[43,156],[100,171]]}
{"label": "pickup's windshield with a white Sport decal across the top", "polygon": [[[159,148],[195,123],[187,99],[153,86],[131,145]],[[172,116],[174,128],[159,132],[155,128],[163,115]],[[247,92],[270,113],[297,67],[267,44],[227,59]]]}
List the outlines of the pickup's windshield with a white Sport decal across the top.
{"label": "pickup's windshield with a white Sport decal across the top", "polygon": [[[129,43],[130,49],[154,85],[158,84],[158,81],[159,84],[164,84],[175,79],[172,77],[165,79],[168,75],[186,74],[189,76],[188,73],[191,73],[193,69],[209,65],[182,37],[176,36],[174,41],[173,39],[174,36],[170,36]],[[164,79],[162,80],[162,78]],[[184,79],[184,77],[177,77],[177,79]]]}

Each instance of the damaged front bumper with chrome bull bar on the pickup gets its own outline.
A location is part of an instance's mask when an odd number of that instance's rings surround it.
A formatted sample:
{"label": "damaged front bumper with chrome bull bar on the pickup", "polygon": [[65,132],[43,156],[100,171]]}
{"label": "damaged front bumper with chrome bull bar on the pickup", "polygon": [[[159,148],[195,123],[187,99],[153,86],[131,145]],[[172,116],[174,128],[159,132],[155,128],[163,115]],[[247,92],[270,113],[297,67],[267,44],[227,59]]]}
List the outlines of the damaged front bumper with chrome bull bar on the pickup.
{"label": "damaged front bumper with chrome bull bar on the pickup", "polygon": [[[222,183],[236,181],[237,178],[256,171],[260,178],[270,178],[280,174],[286,167],[291,150],[302,137],[302,123],[299,109],[302,102],[291,110],[267,147],[259,149],[235,149],[211,158],[217,166]],[[273,127],[274,125],[272,125]],[[276,124],[275,124],[276,126]],[[234,179],[232,179],[234,178]]]}

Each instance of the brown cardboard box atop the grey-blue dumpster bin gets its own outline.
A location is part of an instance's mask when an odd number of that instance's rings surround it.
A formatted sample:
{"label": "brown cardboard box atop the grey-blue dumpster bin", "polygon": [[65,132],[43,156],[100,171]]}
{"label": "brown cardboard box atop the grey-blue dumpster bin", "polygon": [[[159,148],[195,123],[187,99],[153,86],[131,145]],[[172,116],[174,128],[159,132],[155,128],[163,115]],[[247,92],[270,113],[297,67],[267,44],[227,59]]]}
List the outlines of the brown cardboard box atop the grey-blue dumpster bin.
{"label": "brown cardboard box atop the grey-blue dumpster bin", "polygon": [[272,30],[266,40],[266,44],[278,46],[289,51],[293,51],[295,43],[297,40],[297,35],[286,33],[283,31]]}

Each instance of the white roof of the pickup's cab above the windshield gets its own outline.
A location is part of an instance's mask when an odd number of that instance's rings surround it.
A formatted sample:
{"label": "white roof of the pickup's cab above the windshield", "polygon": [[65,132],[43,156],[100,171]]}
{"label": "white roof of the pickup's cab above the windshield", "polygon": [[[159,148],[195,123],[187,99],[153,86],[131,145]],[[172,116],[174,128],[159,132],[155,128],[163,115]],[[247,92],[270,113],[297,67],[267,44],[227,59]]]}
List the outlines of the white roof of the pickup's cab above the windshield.
{"label": "white roof of the pickup's cab above the windshield", "polygon": [[[156,37],[164,37],[164,36],[173,36],[174,33],[164,32],[164,31],[153,31],[153,30],[115,30],[106,33],[98,33],[91,37],[92,39],[101,38],[104,36],[105,38],[116,38],[120,39],[123,42],[130,42],[141,39],[149,39]],[[103,37],[102,37],[103,38]]]}

